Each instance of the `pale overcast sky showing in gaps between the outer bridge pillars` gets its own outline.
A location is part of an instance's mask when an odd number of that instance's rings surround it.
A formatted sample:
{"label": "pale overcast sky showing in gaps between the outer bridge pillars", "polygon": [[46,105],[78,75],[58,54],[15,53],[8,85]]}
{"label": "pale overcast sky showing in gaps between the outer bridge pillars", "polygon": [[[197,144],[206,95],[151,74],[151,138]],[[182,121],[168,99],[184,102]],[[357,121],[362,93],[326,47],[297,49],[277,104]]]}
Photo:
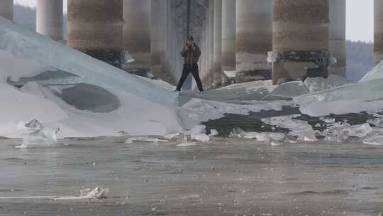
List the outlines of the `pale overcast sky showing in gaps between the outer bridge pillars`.
{"label": "pale overcast sky showing in gaps between the outer bridge pillars", "polygon": [[[15,2],[36,6],[36,0]],[[67,0],[64,0],[64,11],[67,11],[66,5]],[[346,38],[351,41],[374,41],[374,0],[346,0],[346,5]]]}

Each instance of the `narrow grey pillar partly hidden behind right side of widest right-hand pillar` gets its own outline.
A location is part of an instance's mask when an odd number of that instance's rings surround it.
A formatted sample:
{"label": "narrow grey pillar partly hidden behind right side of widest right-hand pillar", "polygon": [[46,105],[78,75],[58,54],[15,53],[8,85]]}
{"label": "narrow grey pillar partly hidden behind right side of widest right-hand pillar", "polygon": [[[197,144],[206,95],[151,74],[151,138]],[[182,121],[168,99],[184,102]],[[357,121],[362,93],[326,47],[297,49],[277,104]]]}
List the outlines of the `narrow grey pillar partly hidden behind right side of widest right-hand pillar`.
{"label": "narrow grey pillar partly hidden behind right side of widest right-hand pillar", "polygon": [[346,75],[346,50],[345,50],[345,23],[346,0],[329,1],[330,29],[328,48],[337,59],[328,71],[331,74],[345,77]]}

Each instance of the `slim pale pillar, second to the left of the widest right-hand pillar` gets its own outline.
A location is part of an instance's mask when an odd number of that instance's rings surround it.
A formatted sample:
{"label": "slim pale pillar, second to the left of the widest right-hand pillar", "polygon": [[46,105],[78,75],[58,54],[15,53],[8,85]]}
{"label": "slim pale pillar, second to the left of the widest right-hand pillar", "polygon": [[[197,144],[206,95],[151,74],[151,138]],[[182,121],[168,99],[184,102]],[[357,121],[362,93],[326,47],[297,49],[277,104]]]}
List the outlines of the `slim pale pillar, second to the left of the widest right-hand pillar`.
{"label": "slim pale pillar, second to the left of the widest right-hand pillar", "polygon": [[[235,0],[222,1],[222,71],[235,70]],[[222,73],[222,84],[228,77]]]}

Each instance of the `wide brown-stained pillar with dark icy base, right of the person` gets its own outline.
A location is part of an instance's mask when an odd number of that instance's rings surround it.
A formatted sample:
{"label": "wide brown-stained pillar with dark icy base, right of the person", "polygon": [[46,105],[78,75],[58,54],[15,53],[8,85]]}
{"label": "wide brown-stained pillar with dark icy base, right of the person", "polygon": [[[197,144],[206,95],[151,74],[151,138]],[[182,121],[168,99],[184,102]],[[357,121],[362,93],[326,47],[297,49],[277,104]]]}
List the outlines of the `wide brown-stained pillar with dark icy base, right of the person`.
{"label": "wide brown-stained pillar with dark icy base, right of the person", "polygon": [[328,0],[273,0],[272,80],[327,77]]}

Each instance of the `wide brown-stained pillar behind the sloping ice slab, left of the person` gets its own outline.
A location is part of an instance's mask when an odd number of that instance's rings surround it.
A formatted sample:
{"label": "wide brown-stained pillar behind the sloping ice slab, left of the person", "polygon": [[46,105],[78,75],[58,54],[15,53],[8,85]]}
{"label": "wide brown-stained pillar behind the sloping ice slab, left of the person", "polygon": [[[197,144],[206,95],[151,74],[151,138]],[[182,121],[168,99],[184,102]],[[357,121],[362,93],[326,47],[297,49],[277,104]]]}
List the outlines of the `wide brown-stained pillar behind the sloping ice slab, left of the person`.
{"label": "wide brown-stained pillar behind the sloping ice slab, left of the person", "polygon": [[120,67],[122,0],[68,0],[67,45]]}

